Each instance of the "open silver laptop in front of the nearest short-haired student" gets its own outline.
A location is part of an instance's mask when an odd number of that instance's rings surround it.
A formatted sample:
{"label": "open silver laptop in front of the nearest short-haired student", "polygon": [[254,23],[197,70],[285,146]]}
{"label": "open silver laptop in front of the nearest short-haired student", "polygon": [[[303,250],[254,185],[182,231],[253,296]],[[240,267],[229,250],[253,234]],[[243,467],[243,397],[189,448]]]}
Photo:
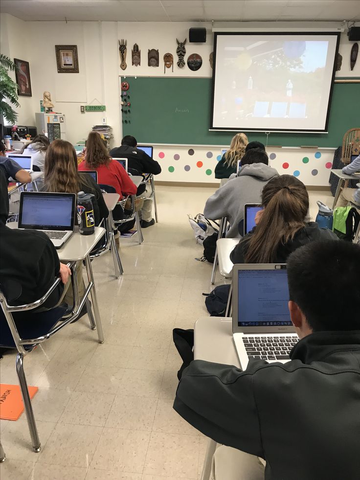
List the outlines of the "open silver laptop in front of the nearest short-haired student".
{"label": "open silver laptop in front of the nearest short-haired student", "polygon": [[232,269],[232,332],[243,370],[250,359],[288,362],[298,342],[288,308],[286,264]]}

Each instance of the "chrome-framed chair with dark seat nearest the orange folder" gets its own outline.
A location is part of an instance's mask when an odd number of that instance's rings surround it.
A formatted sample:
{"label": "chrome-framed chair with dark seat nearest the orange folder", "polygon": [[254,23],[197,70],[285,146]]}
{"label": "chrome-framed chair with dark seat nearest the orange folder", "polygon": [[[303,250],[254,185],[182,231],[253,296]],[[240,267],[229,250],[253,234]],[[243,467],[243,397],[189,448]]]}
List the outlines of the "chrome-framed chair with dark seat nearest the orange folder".
{"label": "chrome-framed chair with dark seat nearest the orange folder", "polygon": [[[5,294],[3,293],[3,288],[0,289],[0,346],[5,348],[16,348],[18,350],[18,355],[16,357],[16,372],[19,378],[22,400],[25,407],[26,419],[34,452],[40,452],[41,443],[36,428],[34,412],[32,410],[26,377],[23,370],[24,356],[30,353],[39,343],[45,342],[50,337],[55,335],[59,330],[67,326],[70,322],[76,320],[79,317],[84,305],[86,305],[86,309],[90,318],[91,329],[94,330],[97,327],[99,343],[104,343],[100,318],[99,316],[96,316],[95,320],[94,316],[92,315],[90,301],[88,299],[89,293],[93,287],[93,279],[88,274],[89,284],[85,289],[84,296],[79,299],[76,288],[76,262],[71,262],[67,265],[71,269],[71,286],[74,295],[74,305],[70,313],[63,306],[58,306],[45,312],[34,312],[34,309],[43,305],[46,299],[55,290],[61,281],[60,278],[57,278],[54,281],[43,297],[26,305],[9,305]],[[15,282],[14,284],[15,285],[14,287],[12,286],[12,290],[15,291],[17,297],[19,297],[21,295],[21,286]]]}

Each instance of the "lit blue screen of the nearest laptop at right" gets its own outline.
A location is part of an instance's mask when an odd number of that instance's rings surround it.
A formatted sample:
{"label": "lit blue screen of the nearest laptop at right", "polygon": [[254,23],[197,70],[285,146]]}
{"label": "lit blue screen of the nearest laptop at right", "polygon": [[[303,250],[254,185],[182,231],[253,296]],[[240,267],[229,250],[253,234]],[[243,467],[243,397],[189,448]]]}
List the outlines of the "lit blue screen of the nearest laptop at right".
{"label": "lit blue screen of the nearest laptop at right", "polygon": [[239,327],[292,325],[288,301],[286,268],[238,271]]}

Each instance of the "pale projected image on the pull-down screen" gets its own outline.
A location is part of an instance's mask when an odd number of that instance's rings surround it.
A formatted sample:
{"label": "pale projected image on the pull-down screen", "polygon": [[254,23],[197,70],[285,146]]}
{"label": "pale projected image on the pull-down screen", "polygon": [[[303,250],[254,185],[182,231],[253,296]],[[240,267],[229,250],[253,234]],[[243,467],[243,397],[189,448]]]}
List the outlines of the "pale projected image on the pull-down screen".
{"label": "pale projected image on the pull-down screen", "polygon": [[327,128],[338,34],[215,34],[210,128]]}

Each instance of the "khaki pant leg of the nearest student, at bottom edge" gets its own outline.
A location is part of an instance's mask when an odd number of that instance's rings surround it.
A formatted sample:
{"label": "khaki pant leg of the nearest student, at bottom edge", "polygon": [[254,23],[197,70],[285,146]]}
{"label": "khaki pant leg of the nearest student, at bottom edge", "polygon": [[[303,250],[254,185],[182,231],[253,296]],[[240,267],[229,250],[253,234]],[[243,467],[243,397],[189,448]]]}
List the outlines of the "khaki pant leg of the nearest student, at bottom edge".
{"label": "khaki pant leg of the nearest student, at bottom edge", "polygon": [[254,455],[219,445],[212,459],[211,480],[264,480],[265,466]]}

